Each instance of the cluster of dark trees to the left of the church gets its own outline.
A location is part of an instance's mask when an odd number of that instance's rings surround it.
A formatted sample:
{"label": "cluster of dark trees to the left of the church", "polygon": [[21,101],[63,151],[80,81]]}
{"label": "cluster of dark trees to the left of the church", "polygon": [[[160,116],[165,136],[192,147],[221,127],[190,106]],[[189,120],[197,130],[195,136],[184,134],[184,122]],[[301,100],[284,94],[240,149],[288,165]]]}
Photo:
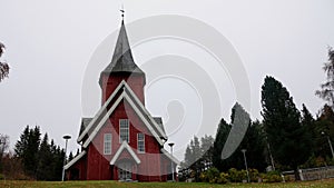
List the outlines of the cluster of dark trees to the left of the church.
{"label": "cluster of dark trees to the left of the church", "polygon": [[65,151],[52,139],[49,141],[48,133],[41,138],[39,127],[27,126],[16,142],[14,154],[0,157],[0,178],[61,180]]}

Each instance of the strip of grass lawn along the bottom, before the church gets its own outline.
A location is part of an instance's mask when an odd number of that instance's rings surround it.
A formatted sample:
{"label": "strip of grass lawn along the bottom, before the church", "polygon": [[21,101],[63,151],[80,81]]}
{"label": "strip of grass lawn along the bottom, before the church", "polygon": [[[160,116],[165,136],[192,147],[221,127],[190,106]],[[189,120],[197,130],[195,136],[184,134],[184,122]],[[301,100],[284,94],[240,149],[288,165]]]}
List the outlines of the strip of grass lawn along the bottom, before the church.
{"label": "strip of grass lawn along the bottom, before the church", "polygon": [[303,182],[279,182],[279,184],[226,184],[214,185],[203,182],[118,182],[118,181],[0,181],[1,188],[288,188],[288,187],[334,187],[334,179]]}

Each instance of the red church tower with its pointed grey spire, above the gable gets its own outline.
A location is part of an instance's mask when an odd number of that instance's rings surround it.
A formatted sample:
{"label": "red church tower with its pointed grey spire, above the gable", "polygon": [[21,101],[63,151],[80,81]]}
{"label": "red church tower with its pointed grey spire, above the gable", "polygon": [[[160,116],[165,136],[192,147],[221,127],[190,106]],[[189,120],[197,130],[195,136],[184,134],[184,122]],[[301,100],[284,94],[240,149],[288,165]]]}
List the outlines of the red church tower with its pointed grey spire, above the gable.
{"label": "red church tower with its pointed grey spire, above the gable", "polygon": [[102,90],[102,103],[122,80],[130,86],[145,106],[146,78],[144,71],[135,63],[124,20],[121,20],[111,62],[100,73],[99,85]]}

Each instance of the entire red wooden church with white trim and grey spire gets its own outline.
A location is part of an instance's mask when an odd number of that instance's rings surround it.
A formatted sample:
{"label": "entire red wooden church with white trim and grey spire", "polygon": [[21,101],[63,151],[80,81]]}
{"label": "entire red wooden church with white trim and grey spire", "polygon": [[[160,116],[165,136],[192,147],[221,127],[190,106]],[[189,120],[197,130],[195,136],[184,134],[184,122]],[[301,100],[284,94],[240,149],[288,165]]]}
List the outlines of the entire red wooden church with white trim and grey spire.
{"label": "entire red wooden church with white trim and grey spire", "polygon": [[145,108],[145,83],[121,21],[111,62],[100,73],[101,108],[94,118],[81,120],[77,139],[81,152],[65,166],[68,179],[176,179],[178,160],[164,149],[167,136],[161,118]]}

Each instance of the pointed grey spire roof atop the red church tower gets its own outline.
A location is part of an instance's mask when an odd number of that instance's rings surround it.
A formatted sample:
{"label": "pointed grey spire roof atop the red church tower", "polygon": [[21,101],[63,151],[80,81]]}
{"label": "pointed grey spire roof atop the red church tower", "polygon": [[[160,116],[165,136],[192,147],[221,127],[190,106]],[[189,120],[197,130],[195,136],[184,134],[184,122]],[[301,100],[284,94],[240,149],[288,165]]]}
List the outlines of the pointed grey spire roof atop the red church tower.
{"label": "pointed grey spire roof atop the red church tower", "polygon": [[121,26],[111,62],[102,71],[102,73],[111,72],[144,73],[144,71],[139,67],[137,67],[134,61],[124,20],[121,20]]}

